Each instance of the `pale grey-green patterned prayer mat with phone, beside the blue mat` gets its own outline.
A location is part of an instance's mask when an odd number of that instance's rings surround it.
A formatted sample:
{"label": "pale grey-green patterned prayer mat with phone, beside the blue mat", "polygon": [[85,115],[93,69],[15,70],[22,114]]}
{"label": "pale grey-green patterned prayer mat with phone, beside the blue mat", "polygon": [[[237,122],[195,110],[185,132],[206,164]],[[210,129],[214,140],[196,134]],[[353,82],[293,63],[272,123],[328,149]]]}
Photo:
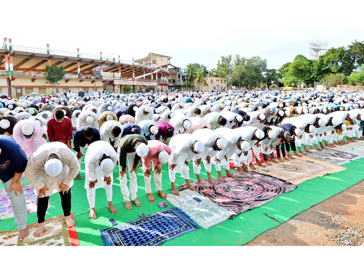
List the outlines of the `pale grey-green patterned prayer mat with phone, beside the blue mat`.
{"label": "pale grey-green patterned prayer mat with phone, beside the blue mat", "polygon": [[[201,199],[201,202],[195,201],[194,197]],[[167,200],[185,211],[204,229],[227,220],[231,215],[231,212],[215,205],[209,198],[190,189],[180,191],[179,196],[167,194]]]}

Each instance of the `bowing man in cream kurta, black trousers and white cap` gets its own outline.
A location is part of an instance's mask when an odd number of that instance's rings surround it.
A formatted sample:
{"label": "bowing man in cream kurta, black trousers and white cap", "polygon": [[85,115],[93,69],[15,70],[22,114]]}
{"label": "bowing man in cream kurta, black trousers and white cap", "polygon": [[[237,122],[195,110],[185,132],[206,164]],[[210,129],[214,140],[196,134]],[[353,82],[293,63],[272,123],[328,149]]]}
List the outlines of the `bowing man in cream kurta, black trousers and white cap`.
{"label": "bowing man in cream kurta, black trousers and white cap", "polygon": [[[51,166],[47,161],[52,161]],[[50,142],[40,146],[31,156],[25,168],[25,179],[34,187],[37,198],[38,227],[35,237],[41,236],[44,227],[49,197],[59,193],[64,218],[68,227],[74,226],[71,218],[71,187],[80,166],[74,152],[61,142]],[[43,196],[43,197],[42,197]]]}

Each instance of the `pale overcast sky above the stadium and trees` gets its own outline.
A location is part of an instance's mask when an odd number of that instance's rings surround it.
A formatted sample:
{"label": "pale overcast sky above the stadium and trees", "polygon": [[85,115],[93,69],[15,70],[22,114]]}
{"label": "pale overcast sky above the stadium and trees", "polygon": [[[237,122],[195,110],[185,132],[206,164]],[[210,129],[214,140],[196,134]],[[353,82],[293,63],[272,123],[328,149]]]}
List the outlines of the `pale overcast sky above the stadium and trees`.
{"label": "pale overcast sky above the stadium and trees", "polygon": [[349,7],[316,2],[21,0],[5,12],[1,33],[14,45],[49,43],[54,50],[78,47],[124,60],[154,52],[182,68],[197,62],[211,69],[221,56],[239,54],[258,55],[278,69],[297,54],[309,58],[314,40],[328,48],[364,40],[364,21],[355,15],[363,1]]}

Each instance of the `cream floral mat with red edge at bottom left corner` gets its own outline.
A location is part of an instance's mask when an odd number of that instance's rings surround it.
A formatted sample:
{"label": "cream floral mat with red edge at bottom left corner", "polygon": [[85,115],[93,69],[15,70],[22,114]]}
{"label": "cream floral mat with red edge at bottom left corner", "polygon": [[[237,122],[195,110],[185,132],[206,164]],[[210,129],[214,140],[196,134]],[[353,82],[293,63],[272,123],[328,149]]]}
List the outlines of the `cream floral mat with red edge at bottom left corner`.
{"label": "cream floral mat with red edge at bottom left corner", "polygon": [[[73,214],[71,213],[73,219]],[[64,216],[59,216],[44,222],[43,234],[34,237],[33,232],[38,224],[27,226],[29,236],[23,241],[18,240],[18,231],[9,230],[0,233],[0,246],[79,246],[76,227],[67,227]]]}

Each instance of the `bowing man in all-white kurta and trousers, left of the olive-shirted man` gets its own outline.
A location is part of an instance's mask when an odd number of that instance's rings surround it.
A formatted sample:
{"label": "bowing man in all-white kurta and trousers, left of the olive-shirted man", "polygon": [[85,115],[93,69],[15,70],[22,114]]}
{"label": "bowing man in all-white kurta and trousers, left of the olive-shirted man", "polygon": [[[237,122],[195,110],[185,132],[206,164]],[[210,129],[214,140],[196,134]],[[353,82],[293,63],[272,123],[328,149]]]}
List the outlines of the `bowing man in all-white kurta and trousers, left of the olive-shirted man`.
{"label": "bowing man in all-white kurta and trousers, left of the olive-shirted man", "polygon": [[111,214],[118,212],[112,205],[112,183],[114,177],[112,171],[118,161],[118,155],[112,146],[106,141],[95,141],[88,146],[85,155],[85,189],[87,200],[90,204],[90,219],[96,219],[95,196],[96,189],[104,187],[107,198],[107,208]]}

